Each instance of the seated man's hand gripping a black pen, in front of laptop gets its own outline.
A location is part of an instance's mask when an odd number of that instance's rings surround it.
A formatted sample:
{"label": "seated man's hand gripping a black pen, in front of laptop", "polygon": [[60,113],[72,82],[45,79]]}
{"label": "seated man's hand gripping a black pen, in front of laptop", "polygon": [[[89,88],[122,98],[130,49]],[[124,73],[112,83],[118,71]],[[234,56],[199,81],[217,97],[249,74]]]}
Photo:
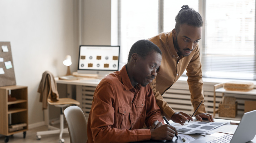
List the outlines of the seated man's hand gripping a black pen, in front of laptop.
{"label": "seated man's hand gripping a black pen, in front of laptop", "polygon": [[172,140],[175,134],[178,136],[176,128],[168,124],[151,129],[150,132],[152,140]]}

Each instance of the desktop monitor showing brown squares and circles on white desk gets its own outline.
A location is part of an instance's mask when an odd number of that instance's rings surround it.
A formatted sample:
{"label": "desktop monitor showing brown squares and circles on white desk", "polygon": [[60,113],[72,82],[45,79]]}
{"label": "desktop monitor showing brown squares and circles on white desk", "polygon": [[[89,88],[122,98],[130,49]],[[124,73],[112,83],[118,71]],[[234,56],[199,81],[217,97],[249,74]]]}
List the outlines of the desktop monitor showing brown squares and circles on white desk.
{"label": "desktop monitor showing brown squares and circles on white desk", "polygon": [[119,68],[120,46],[80,45],[78,74],[97,74],[103,78]]}

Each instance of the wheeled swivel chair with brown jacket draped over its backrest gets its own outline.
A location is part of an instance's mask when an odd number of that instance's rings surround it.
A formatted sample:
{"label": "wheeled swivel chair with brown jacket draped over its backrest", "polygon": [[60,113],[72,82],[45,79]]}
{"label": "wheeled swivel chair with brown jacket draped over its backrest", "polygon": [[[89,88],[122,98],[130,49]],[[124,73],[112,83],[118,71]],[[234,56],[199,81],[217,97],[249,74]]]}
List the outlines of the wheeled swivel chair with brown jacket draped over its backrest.
{"label": "wheeled swivel chair with brown jacket draped over its backrest", "polygon": [[[38,131],[37,132],[37,140],[41,139],[41,135],[49,135],[49,134],[60,134],[59,135],[59,142],[64,143],[64,139],[62,139],[63,133],[68,133],[68,129],[64,129],[64,117],[63,117],[63,107],[68,107],[71,104],[80,105],[80,102],[72,99],[72,98],[59,98],[59,94],[57,92],[57,84],[55,79],[49,71],[43,73],[41,83],[38,88],[38,92],[41,93],[40,101],[43,102],[43,109],[47,108],[47,103],[50,105],[54,105],[55,107],[60,107],[61,114],[60,114],[60,128],[54,126],[48,126],[49,131]],[[47,98],[47,103],[46,99]]]}

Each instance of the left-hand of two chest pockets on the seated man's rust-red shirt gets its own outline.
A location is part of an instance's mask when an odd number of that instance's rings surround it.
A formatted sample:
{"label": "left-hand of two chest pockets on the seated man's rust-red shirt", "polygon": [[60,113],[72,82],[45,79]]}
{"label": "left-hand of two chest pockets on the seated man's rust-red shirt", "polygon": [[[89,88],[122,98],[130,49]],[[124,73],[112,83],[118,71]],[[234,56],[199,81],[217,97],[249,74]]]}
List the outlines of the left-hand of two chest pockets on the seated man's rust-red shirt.
{"label": "left-hand of two chest pockets on the seated man's rust-red shirt", "polygon": [[130,106],[119,107],[118,108],[118,117],[116,121],[116,127],[118,129],[130,129],[131,120],[130,120]]}

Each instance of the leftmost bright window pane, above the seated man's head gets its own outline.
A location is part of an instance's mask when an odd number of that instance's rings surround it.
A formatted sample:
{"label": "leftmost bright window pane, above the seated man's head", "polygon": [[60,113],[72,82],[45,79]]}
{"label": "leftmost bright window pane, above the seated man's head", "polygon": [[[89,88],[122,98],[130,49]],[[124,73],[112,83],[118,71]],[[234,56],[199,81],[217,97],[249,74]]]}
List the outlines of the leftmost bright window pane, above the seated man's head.
{"label": "leftmost bright window pane, above the seated man's head", "polygon": [[[158,34],[157,0],[120,0],[120,60],[124,65],[131,46],[138,40]],[[122,66],[121,66],[122,67]]]}

